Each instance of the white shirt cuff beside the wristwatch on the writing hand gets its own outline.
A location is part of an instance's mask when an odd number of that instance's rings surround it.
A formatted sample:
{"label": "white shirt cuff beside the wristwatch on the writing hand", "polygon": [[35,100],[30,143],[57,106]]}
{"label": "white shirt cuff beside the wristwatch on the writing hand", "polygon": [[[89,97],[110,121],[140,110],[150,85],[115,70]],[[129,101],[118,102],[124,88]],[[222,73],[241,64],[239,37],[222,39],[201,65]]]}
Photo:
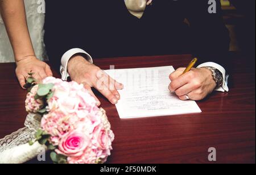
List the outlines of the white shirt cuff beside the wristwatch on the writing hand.
{"label": "white shirt cuff beside the wristwatch on the writing hand", "polygon": [[225,91],[229,91],[229,87],[228,87],[228,78],[229,78],[229,75],[226,75],[226,70],[219,64],[216,64],[215,62],[205,62],[203,64],[200,64],[199,66],[197,66],[197,68],[203,68],[205,66],[209,66],[209,67],[212,67],[212,68],[216,68],[218,69],[222,75],[223,75],[223,84],[221,87],[217,87],[215,90],[216,91],[222,91],[222,92],[225,92]]}

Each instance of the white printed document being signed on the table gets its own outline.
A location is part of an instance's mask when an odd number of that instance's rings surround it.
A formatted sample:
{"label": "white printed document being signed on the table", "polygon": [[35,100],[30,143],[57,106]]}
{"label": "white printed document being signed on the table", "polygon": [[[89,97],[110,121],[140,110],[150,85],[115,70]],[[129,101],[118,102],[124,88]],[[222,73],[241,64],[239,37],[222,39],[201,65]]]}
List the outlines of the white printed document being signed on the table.
{"label": "white printed document being signed on the table", "polygon": [[168,89],[173,66],[105,70],[124,85],[116,107],[121,119],[201,113],[195,101],[181,101]]}

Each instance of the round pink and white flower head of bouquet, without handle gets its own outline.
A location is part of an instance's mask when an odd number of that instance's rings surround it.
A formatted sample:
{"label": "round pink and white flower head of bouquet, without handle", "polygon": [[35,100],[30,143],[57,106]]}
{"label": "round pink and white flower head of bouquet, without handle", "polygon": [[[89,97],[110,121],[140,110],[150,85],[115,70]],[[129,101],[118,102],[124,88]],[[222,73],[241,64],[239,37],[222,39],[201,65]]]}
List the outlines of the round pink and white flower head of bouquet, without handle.
{"label": "round pink and white flower head of bouquet, without handle", "polygon": [[112,150],[114,134],[103,109],[76,82],[48,77],[28,89],[26,110],[40,116],[40,127],[31,147],[44,145],[54,163],[105,163]]}

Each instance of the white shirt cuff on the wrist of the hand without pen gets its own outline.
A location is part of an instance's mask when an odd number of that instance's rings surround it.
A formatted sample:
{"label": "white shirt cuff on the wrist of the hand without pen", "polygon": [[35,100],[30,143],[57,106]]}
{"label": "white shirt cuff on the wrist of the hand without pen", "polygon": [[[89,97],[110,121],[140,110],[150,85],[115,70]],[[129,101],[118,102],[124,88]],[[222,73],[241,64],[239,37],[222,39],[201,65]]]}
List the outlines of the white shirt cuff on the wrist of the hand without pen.
{"label": "white shirt cuff on the wrist of the hand without pen", "polygon": [[67,81],[69,74],[68,74],[68,61],[71,59],[72,56],[76,55],[77,53],[81,53],[81,55],[84,56],[84,58],[89,61],[90,63],[93,63],[92,57],[85,52],[83,49],[80,48],[73,48],[64,53],[64,55],[61,58],[61,66],[60,66],[60,73],[61,73],[61,79],[63,81]]}

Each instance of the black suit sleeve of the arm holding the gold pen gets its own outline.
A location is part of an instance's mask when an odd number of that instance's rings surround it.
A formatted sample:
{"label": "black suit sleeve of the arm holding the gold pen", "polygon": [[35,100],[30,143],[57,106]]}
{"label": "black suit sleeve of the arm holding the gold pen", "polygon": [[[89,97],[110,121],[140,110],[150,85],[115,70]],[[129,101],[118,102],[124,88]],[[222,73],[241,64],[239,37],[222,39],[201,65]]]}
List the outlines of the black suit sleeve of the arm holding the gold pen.
{"label": "black suit sleeve of the arm holding the gold pen", "polygon": [[229,31],[226,28],[223,18],[221,4],[216,0],[216,14],[210,14],[208,1],[184,1],[185,18],[191,27],[193,55],[199,57],[199,64],[203,62],[216,62],[224,66],[229,51]]}

